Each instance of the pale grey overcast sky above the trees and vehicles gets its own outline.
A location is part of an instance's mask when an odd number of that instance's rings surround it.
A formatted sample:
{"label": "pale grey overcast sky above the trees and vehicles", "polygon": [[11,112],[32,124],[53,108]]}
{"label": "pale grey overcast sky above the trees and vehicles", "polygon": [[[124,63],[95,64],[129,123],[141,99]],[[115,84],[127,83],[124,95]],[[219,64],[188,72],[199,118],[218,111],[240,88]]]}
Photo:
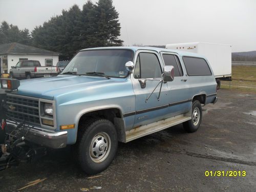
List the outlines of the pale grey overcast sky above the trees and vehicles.
{"label": "pale grey overcast sky above the trees and vehicles", "polygon": [[[33,30],[87,0],[0,0],[0,22]],[[92,2],[97,2],[93,0]],[[255,0],[113,0],[124,45],[217,42],[232,52],[256,50]]]}

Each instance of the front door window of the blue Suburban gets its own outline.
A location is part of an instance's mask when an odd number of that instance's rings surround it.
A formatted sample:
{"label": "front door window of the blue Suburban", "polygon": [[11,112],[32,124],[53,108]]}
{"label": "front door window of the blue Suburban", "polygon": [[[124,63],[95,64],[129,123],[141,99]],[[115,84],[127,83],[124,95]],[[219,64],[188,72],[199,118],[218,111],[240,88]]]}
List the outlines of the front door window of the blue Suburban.
{"label": "front door window of the blue Suburban", "polygon": [[161,78],[161,67],[154,53],[139,53],[134,78]]}

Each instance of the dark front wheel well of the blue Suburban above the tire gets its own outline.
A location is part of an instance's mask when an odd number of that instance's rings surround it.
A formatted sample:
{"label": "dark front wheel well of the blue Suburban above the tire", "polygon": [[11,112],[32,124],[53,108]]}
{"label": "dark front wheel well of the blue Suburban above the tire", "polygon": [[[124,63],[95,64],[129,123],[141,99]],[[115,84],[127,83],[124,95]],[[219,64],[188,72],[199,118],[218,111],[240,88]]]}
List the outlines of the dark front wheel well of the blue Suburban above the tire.
{"label": "dark front wheel well of the blue Suburban above the tire", "polygon": [[98,111],[92,111],[88,112],[86,114],[83,114],[78,123],[78,132],[79,129],[82,129],[82,127],[79,127],[81,123],[86,121],[87,119],[91,118],[103,118],[103,119],[108,119],[111,121],[116,128],[117,134],[118,134],[118,141],[124,142],[125,141],[125,130],[124,130],[124,122],[122,119],[122,113],[119,109],[117,108],[111,108],[111,109],[103,109],[103,110],[98,110]]}

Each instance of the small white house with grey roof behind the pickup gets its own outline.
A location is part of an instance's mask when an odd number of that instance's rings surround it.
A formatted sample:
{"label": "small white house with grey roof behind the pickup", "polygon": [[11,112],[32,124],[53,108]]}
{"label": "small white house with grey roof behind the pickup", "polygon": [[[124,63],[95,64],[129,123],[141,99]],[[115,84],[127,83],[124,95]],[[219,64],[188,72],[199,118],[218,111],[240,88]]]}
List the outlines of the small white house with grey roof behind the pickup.
{"label": "small white house with grey roof behind the pickup", "polygon": [[38,60],[41,66],[56,66],[59,53],[12,42],[0,45],[1,73],[9,73],[20,60]]}

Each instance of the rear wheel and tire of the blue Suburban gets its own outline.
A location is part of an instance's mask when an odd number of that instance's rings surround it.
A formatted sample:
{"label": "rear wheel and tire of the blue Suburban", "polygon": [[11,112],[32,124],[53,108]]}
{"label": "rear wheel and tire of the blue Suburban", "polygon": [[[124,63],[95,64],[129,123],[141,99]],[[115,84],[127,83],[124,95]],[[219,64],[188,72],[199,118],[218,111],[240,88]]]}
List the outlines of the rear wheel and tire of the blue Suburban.
{"label": "rear wheel and tire of the blue Suburban", "polygon": [[198,100],[195,100],[192,104],[191,120],[183,123],[184,129],[188,133],[196,132],[202,121],[202,106]]}

